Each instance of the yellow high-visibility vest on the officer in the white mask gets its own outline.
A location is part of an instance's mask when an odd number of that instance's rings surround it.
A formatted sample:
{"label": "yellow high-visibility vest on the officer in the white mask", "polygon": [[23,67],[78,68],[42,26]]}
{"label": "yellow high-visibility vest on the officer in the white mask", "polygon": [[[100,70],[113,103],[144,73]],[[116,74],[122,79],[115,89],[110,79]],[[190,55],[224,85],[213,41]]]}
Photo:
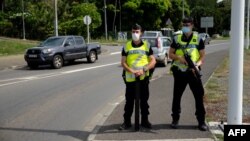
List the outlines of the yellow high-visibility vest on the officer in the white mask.
{"label": "yellow high-visibility vest on the officer in the white mask", "polygon": [[[141,47],[134,48],[132,46],[132,41],[130,41],[126,44],[126,47],[124,49],[127,53],[126,63],[130,68],[134,70],[140,70],[149,63],[149,47],[147,42],[143,42],[143,45]],[[149,71],[146,72],[146,75],[141,75],[140,80],[143,80],[146,76],[149,76]],[[135,75],[128,71],[126,71],[125,77],[126,82],[134,82],[136,80]]]}

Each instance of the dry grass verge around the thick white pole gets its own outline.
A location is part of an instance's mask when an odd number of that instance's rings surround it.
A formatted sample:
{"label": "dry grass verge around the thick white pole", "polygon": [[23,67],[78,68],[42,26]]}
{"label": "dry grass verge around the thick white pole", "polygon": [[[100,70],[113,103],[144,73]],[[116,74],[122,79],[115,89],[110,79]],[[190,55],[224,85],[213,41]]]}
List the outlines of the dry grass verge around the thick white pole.
{"label": "dry grass verge around the thick white pole", "polygon": [[[228,83],[229,57],[226,57],[205,86],[205,105],[209,122],[227,121]],[[243,123],[250,123],[250,50],[244,50],[243,84]],[[223,140],[221,135],[217,138]]]}

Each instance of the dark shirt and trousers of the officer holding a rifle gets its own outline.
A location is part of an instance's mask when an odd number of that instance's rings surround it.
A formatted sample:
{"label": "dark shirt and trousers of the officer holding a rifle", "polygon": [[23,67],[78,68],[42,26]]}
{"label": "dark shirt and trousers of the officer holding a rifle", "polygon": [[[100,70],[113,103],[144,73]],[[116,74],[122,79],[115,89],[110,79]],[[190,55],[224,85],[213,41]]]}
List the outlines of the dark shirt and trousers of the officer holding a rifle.
{"label": "dark shirt and trousers of the officer holding a rifle", "polygon": [[[197,33],[196,33],[197,34]],[[189,38],[187,38],[184,34],[179,35],[181,36],[181,41],[178,41],[177,37],[173,40],[173,43],[171,44],[171,48],[174,48],[175,50],[180,50],[183,47],[186,47],[185,43],[190,43],[187,48],[196,48],[198,51],[205,49],[205,45],[202,39],[193,38],[194,32],[190,35]],[[180,38],[180,37],[179,37]],[[198,39],[198,41],[196,41]],[[180,40],[180,39],[179,39]],[[179,42],[184,43],[184,45],[180,45]],[[192,43],[191,43],[192,42]],[[192,55],[191,55],[192,56]],[[181,97],[182,94],[187,86],[189,84],[190,89],[194,95],[195,98],[195,107],[196,107],[196,118],[199,123],[199,127],[205,125],[205,108],[203,104],[203,96],[204,96],[204,88],[202,85],[201,79],[197,79],[190,69],[186,69],[184,67],[184,70],[180,69],[181,67],[178,67],[178,65],[174,65],[175,62],[173,62],[173,65],[171,67],[171,71],[174,76],[174,91],[173,91],[173,101],[172,101],[172,127],[176,128],[180,113],[181,113]],[[203,128],[203,127],[202,127]]]}

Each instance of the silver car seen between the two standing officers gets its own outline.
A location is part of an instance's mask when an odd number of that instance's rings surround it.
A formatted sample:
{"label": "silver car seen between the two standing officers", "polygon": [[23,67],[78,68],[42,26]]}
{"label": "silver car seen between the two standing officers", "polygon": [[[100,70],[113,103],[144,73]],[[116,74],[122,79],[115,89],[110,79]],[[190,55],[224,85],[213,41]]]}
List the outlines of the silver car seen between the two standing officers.
{"label": "silver car seen between the two standing officers", "polygon": [[157,64],[162,64],[164,67],[170,62],[169,49],[171,45],[171,37],[142,37],[143,41],[147,41],[153,50]]}

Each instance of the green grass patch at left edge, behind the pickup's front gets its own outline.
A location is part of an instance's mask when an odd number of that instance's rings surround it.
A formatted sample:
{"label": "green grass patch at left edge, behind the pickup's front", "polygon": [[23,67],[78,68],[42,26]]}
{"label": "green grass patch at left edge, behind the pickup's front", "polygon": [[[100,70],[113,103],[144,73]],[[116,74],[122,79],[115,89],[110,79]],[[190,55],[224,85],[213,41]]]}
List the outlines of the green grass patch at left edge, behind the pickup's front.
{"label": "green grass patch at left edge, behind the pickup's front", "polygon": [[27,48],[38,42],[17,39],[0,39],[0,56],[24,54]]}

